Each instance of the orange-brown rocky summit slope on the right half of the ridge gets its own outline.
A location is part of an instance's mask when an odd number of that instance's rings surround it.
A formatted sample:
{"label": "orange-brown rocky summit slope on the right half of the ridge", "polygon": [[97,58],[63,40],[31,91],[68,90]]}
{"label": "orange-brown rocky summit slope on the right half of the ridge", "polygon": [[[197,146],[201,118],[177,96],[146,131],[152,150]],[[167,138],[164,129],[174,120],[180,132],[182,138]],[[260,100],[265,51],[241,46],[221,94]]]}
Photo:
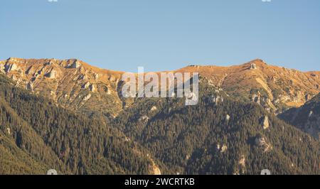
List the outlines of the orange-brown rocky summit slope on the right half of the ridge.
{"label": "orange-brown rocky summit slope on the right half of the ridge", "polygon": [[319,72],[279,68],[262,60],[230,67],[189,66],[178,71],[199,72],[228,95],[257,102],[276,114],[299,107],[320,92]]}

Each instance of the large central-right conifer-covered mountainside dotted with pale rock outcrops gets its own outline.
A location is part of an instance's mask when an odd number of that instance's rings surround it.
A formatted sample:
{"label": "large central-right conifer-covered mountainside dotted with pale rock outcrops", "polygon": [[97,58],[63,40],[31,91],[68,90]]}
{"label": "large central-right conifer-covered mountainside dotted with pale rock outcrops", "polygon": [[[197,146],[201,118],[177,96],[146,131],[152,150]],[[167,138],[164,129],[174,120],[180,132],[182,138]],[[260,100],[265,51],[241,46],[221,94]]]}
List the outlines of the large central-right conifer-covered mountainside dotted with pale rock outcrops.
{"label": "large central-right conifer-covered mountainside dotted with pale rock outcrops", "polygon": [[[319,142],[255,103],[201,82],[201,99],[138,99],[114,125],[173,174],[318,173]],[[163,169],[163,168],[162,168]]]}

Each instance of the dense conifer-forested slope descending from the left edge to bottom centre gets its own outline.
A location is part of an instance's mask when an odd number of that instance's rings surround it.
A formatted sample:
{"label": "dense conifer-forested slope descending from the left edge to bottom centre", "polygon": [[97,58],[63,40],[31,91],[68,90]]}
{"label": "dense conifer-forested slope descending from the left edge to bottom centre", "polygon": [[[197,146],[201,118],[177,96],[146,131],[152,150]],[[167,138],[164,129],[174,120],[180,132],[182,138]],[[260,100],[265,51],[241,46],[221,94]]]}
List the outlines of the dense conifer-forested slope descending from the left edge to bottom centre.
{"label": "dense conifer-forested slope descending from the left edge to bottom centre", "polygon": [[0,174],[146,174],[144,148],[103,117],[75,114],[0,74]]}

